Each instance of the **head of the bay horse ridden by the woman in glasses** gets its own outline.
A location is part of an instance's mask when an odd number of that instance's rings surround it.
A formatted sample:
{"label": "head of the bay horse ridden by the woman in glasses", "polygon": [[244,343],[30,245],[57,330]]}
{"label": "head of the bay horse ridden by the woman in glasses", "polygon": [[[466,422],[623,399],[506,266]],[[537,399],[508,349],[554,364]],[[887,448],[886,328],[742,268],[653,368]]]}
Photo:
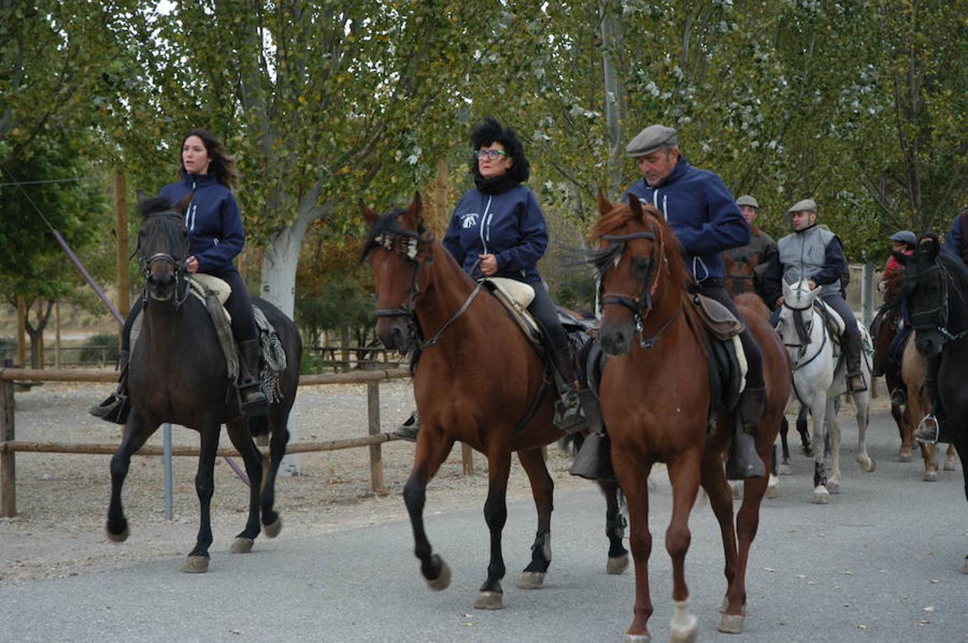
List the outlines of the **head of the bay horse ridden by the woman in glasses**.
{"label": "head of the bay horse ridden by the woman in glasses", "polygon": [[420,193],[406,210],[380,216],[360,201],[370,235],[362,260],[377,285],[377,336],[388,349],[408,352],[418,340],[414,306],[424,291],[421,267],[434,260],[434,234],[424,229]]}

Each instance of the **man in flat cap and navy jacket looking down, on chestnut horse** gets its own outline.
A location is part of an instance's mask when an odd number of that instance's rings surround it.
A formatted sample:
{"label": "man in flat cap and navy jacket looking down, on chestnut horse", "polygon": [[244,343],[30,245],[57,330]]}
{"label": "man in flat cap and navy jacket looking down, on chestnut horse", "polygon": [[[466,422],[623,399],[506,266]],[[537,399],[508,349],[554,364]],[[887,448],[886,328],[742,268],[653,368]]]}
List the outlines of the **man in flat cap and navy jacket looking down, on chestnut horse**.
{"label": "man in flat cap and navy jacket looking down, on chestnut horse", "polygon": [[[723,252],[749,242],[749,226],[733,195],[713,172],[693,168],[682,158],[676,130],[671,127],[647,127],[632,138],[625,151],[636,160],[643,176],[629,188],[626,199],[640,199],[662,212],[679,237],[698,290],[742,319],[723,288]],[[748,368],[737,405],[741,421],[726,463],[730,479],[766,475],[755,438],[766,404],[762,354],[748,328],[740,339]]]}

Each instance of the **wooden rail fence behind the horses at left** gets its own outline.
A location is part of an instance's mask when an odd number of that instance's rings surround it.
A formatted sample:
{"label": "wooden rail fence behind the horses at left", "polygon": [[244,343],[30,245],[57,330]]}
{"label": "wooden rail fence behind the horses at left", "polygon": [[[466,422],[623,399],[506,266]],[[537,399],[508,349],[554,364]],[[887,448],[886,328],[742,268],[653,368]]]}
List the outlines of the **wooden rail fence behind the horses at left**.
{"label": "wooden rail fence behind the horses at left", "polygon": [[[370,484],[374,493],[386,493],[383,484],[383,457],[380,444],[400,440],[391,433],[382,433],[379,424],[379,383],[409,377],[405,368],[379,371],[357,371],[325,375],[304,375],[299,378],[300,386],[365,383],[367,385],[367,429],[368,435],[348,440],[328,440],[319,442],[300,441],[287,444],[287,453],[306,453],[311,451],[335,451],[358,446],[370,447]],[[0,517],[12,518],[16,515],[16,461],[17,451],[32,453],[87,453],[113,455],[117,444],[69,444],[50,442],[18,441],[15,436],[14,383],[15,382],[117,382],[117,374],[99,371],[37,370],[0,368]],[[263,456],[267,451],[263,448]],[[473,474],[473,451],[462,444],[464,475]],[[161,446],[145,444],[136,455],[162,455]],[[222,456],[237,456],[233,448],[220,448]],[[172,455],[198,455],[195,446],[175,446]]]}

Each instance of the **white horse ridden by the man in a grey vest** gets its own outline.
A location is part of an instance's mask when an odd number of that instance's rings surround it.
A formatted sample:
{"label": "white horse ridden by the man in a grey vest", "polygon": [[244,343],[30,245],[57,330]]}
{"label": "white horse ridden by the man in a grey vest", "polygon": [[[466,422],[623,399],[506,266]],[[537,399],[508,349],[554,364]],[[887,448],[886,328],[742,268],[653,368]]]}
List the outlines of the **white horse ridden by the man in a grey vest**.
{"label": "white horse ridden by the man in a grey vest", "polygon": [[[839,357],[839,347],[828,332],[825,315],[815,307],[820,289],[810,290],[806,282],[794,286],[783,284],[783,306],[777,330],[793,361],[793,391],[791,404],[799,400],[813,417],[813,502],[830,503],[830,494],[840,490],[840,427],[837,424],[835,401],[847,392],[846,364]],[[834,315],[832,309],[827,309]],[[866,328],[859,326],[862,344],[870,346]],[[866,352],[861,360],[864,381],[870,383],[870,363]],[[853,393],[857,407],[858,455],[857,462],[865,472],[876,467],[867,454],[867,419],[870,405],[869,391]],[[830,438],[831,475],[824,462],[825,438]]]}

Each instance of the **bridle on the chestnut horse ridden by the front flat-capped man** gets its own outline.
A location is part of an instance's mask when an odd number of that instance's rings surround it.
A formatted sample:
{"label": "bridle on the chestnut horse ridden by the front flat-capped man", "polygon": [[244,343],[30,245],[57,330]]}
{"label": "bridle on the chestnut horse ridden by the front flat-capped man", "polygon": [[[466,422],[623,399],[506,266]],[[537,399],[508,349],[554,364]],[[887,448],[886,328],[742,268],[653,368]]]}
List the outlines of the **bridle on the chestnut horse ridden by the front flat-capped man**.
{"label": "bridle on the chestnut horse ridden by the front flat-capped man", "polygon": [[652,298],[655,295],[655,291],[658,288],[659,276],[661,271],[658,269],[659,261],[665,265],[666,275],[669,274],[669,261],[665,257],[665,239],[662,236],[662,232],[658,235],[658,256],[660,260],[656,260],[655,247],[653,245],[652,252],[649,255],[649,269],[646,272],[646,278],[643,282],[642,294],[637,297],[629,297],[624,294],[616,292],[602,292],[604,290],[604,277],[605,274],[611,268],[619,265],[619,262],[625,252],[625,243],[632,241],[634,239],[649,239],[655,242],[655,234],[651,230],[632,232],[630,234],[603,234],[601,239],[609,243],[609,255],[614,256],[614,260],[610,261],[608,264],[601,266],[599,269],[599,301],[601,302],[602,308],[608,305],[619,305],[624,306],[632,312],[632,322],[635,325],[635,333],[639,336],[639,346],[643,349],[650,349],[658,343],[662,336],[663,331],[669,327],[669,325],[679,316],[682,310],[682,303],[680,302],[679,307],[676,309],[668,320],[659,326],[659,329],[655,331],[654,334],[648,339],[646,339],[643,334],[643,328],[645,325],[645,319],[649,316],[652,310]]}

